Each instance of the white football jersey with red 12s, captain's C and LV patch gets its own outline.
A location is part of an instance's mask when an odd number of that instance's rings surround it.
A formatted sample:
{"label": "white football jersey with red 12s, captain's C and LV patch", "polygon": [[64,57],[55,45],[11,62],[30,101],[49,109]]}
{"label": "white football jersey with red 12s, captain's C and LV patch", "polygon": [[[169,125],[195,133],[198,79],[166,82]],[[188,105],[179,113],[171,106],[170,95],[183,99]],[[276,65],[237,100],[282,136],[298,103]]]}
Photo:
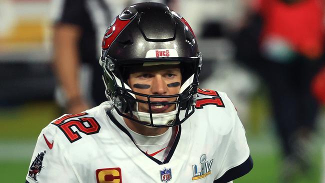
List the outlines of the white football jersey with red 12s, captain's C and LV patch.
{"label": "white football jersey with red 12s, captain's C and LV patch", "polygon": [[140,150],[110,101],[42,129],[26,182],[228,182],[252,168],[245,130],[223,92],[199,89],[195,112],[173,127],[164,161]]}

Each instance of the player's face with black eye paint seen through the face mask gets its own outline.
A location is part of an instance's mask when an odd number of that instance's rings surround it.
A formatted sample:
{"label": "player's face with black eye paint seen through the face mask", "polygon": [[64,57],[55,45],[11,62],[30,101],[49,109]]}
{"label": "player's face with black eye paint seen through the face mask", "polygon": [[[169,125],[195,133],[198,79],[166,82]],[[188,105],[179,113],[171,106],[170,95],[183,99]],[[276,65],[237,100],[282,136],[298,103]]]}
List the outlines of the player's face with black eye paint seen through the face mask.
{"label": "player's face with black eye paint seen through the face mask", "polygon": [[[139,93],[150,95],[172,95],[179,92],[181,72],[178,65],[154,65],[136,67],[127,79],[130,88]],[[137,99],[147,100],[144,96],[135,95]],[[175,101],[172,98],[150,98],[150,101]],[[151,105],[152,113],[165,113],[175,109],[175,104]],[[138,111],[149,112],[147,103],[138,102]]]}

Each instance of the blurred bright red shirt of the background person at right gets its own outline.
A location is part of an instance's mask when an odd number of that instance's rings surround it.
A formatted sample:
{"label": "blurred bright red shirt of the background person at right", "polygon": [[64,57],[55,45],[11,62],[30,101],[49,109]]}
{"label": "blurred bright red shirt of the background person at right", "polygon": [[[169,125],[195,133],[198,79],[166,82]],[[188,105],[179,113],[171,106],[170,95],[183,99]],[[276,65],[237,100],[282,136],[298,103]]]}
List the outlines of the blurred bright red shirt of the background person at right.
{"label": "blurred bright red shirt of the background person at right", "polygon": [[258,0],[257,9],[263,16],[261,39],[282,37],[295,51],[314,59],[323,50],[323,0],[300,0],[287,4],[281,0]]}

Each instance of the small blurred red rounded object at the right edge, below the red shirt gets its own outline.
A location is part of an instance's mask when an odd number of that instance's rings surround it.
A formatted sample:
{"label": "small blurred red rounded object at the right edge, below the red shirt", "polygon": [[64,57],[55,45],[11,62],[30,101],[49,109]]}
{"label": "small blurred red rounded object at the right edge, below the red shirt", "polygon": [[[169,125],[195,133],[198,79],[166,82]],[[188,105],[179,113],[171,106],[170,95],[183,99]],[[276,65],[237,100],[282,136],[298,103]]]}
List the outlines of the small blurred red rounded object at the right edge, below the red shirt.
{"label": "small blurred red rounded object at the right edge, below the red shirt", "polygon": [[325,104],[325,66],[316,74],[311,82],[314,96],[321,104]]}

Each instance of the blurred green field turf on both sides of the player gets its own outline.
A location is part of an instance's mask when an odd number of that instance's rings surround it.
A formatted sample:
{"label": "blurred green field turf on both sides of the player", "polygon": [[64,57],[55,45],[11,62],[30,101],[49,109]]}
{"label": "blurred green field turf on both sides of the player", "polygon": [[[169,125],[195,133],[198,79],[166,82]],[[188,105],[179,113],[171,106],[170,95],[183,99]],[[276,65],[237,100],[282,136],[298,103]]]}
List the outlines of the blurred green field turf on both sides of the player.
{"label": "blurred green field turf on both sides of the player", "polygon": [[[52,102],[28,103],[14,108],[0,108],[0,182],[24,182],[36,138],[45,125],[59,116]],[[234,182],[278,182],[281,165],[279,148],[272,131],[272,125],[262,123],[246,125],[254,167],[250,173]],[[252,130],[254,128],[254,130]],[[315,137],[312,154],[312,168],[297,174],[296,183],[320,182],[322,138]]]}

